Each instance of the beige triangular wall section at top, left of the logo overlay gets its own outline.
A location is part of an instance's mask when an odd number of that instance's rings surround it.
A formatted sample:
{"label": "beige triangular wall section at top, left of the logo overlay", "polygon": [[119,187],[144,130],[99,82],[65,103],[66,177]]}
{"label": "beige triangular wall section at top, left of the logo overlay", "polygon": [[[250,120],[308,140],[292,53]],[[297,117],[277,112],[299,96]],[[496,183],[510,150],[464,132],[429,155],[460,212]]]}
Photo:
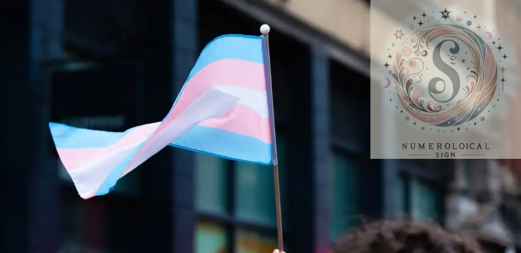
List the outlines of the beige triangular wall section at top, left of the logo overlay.
{"label": "beige triangular wall section at top, left of the logo overlay", "polygon": [[263,0],[369,55],[369,5],[362,0]]}

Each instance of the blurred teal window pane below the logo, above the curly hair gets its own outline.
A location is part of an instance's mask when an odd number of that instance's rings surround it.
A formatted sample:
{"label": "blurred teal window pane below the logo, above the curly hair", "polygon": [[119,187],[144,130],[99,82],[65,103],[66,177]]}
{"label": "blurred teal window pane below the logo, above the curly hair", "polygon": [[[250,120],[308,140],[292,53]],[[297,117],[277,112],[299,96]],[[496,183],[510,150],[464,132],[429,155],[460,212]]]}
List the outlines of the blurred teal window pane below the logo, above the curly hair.
{"label": "blurred teal window pane below the logo, above the curly hair", "polygon": [[416,179],[411,180],[411,218],[413,221],[431,219],[440,221],[439,192]]}

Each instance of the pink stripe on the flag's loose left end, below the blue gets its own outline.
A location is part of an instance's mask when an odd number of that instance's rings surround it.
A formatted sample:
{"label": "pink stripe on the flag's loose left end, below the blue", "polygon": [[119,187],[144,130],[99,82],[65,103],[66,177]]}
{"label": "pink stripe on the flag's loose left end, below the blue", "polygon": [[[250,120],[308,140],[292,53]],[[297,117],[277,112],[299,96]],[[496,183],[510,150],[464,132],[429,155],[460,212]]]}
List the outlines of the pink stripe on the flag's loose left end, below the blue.
{"label": "pink stripe on the flag's loose left end, below the blue", "polygon": [[89,162],[100,159],[103,155],[125,147],[129,144],[144,141],[152,132],[157,129],[159,122],[143,125],[134,128],[127,135],[123,136],[116,143],[105,148],[88,149],[57,149],[61,162],[67,170],[74,170],[88,164]]}

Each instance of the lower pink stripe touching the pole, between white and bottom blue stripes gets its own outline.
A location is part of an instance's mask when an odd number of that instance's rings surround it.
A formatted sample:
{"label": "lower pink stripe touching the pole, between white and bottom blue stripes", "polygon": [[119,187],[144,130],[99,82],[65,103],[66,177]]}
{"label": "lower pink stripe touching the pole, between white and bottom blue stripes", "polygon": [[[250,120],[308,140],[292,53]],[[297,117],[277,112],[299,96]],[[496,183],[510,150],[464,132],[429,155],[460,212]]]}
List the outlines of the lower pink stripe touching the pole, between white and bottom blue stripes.
{"label": "lower pink stripe touching the pole, between white and bottom blue stripes", "polygon": [[249,106],[238,104],[225,116],[210,118],[198,124],[250,136],[271,143],[269,118],[262,118]]}

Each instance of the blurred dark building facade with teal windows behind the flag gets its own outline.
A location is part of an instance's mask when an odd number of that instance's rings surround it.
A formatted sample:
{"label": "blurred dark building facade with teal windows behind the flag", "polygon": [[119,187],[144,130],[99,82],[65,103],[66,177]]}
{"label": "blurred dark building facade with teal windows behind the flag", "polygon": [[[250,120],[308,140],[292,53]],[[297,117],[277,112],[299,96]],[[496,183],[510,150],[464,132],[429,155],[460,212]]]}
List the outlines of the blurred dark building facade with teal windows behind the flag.
{"label": "blurred dark building facade with teal windows behind the flag", "polygon": [[111,194],[82,200],[47,130],[158,121],[206,43],[262,23],[286,250],[325,252],[361,214],[445,219],[450,164],[369,159],[369,87],[354,85],[369,78],[368,2],[23,0],[4,11],[2,101],[13,110],[2,116],[13,124],[0,252],[271,252],[271,168],[165,149]]}

